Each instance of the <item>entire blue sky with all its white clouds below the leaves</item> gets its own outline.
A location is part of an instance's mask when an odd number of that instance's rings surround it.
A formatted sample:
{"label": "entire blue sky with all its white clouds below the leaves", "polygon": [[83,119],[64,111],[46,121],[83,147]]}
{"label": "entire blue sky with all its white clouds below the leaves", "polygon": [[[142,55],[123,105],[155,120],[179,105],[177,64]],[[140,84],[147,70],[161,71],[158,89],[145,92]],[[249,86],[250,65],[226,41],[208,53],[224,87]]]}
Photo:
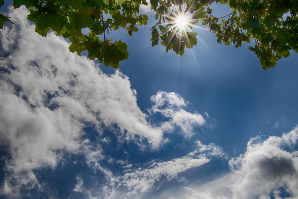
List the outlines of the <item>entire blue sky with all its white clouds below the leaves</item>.
{"label": "entire blue sky with all its white clouds below the leaves", "polygon": [[128,45],[115,70],[7,8],[0,196],[297,198],[297,53],[265,71],[250,44],[218,44],[203,26],[183,56],[166,53],[142,11],[133,36],[107,36]]}

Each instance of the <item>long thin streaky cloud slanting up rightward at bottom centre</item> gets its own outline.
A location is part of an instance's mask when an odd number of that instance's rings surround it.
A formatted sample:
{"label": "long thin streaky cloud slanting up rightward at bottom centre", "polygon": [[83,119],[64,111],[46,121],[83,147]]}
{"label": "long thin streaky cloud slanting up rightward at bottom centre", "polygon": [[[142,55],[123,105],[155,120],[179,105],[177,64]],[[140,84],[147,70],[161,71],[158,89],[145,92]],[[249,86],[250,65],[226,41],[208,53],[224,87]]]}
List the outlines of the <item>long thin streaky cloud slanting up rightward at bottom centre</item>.
{"label": "long thin streaky cloud slanting up rightward at bottom centre", "polygon": [[123,175],[111,177],[102,186],[100,193],[98,187],[93,190],[86,189],[78,176],[74,191],[83,192],[90,198],[142,198],[143,194],[151,192],[157,183],[177,179],[187,170],[210,162],[214,156],[224,157],[225,153],[214,143],[203,145],[200,141],[196,141],[195,149],[183,157],[163,162],[152,161],[142,167],[131,169]]}

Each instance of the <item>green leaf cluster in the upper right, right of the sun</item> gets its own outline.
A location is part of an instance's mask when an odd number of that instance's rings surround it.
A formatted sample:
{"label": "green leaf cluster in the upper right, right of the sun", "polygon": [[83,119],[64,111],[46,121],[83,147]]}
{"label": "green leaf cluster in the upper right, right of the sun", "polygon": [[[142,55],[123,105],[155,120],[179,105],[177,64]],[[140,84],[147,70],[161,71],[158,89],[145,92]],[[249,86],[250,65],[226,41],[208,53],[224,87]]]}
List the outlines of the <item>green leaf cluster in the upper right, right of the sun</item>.
{"label": "green leaf cluster in the upper right, right of the sun", "polygon": [[217,0],[228,4],[232,12],[219,17],[208,8],[203,25],[217,36],[217,42],[240,47],[243,42],[254,41],[249,49],[260,59],[263,69],[274,67],[282,57],[298,53],[298,1],[297,0]]}

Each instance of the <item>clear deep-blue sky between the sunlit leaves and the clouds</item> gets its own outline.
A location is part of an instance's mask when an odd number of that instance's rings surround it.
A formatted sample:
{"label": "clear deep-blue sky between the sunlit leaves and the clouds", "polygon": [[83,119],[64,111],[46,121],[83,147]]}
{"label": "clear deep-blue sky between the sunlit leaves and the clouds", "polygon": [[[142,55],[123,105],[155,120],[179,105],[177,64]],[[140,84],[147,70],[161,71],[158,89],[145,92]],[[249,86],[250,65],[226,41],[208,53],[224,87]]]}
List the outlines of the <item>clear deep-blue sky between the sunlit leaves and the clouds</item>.
{"label": "clear deep-blue sky between the sunlit leaves and the clouds", "polygon": [[[214,135],[209,139],[216,139],[220,146],[232,145],[235,148],[227,150],[237,149],[238,153],[246,149],[249,138],[259,133],[280,135],[296,125],[295,52],[265,71],[247,49],[249,44],[237,49],[221,45],[208,30],[195,29],[205,44],[198,39],[192,50],[178,56],[172,51],[166,53],[163,46],[151,47],[150,22],[133,37],[126,36],[125,30],[111,34],[111,38],[119,37],[129,46],[129,59],[121,62],[120,71],[137,90],[143,112],[158,90],[179,93],[189,101],[188,110],[206,111],[216,120],[217,128],[206,136]],[[104,72],[111,70],[103,68]]]}

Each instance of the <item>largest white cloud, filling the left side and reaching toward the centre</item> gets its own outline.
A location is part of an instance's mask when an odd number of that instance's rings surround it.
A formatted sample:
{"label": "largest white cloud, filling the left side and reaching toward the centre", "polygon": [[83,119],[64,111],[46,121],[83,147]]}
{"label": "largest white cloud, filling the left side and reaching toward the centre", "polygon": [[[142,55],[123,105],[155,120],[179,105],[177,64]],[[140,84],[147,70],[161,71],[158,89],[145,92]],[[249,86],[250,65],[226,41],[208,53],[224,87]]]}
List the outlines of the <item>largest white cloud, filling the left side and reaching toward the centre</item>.
{"label": "largest white cloud, filling the left side and reaching toward the centre", "polygon": [[[183,109],[181,96],[164,91],[152,96],[151,100],[163,95],[151,110],[170,121],[150,124],[150,114],[138,107],[136,90],[127,76],[119,71],[104,74],[93,61],[70,53],[69,43],[61,37],[35,33],[25,7],[10,9],[15,24],[0,30],[0,133],[1,145],[10,155],[2,193],[18,197],[22,189],[43,191],[33,170],[54,169],[65,154],[83,154],[92,169],[111,176],[100,164],[105,159],[102,147],[86,138],[86,124],[92,124],[98,135],[102,125],[116,124],[116,135],[133,141],[136,135],[145,138],[152,149],[166,141],[164,132],[179,127],[187,134],[204,124],[200,114]],[[172,98],[180,101],[159,106]]]}

